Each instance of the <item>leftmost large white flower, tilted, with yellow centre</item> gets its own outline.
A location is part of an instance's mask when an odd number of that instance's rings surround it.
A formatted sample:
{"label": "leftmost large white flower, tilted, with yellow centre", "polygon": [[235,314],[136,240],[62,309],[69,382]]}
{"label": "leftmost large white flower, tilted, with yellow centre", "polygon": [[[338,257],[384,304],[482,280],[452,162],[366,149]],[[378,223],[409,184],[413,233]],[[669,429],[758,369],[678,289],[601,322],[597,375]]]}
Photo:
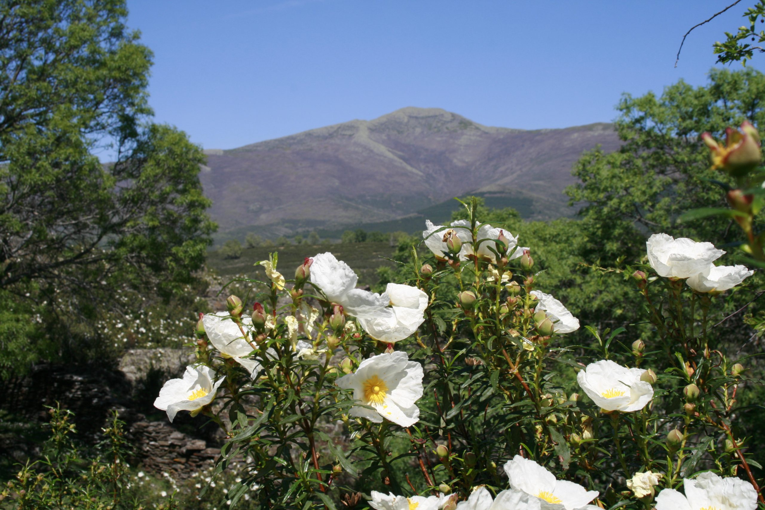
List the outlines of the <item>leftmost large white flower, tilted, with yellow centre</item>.
{"label": "leftmost large white flower, tilted, with yellow centre", "polygon": [[164,383],[154,407],[168,411],[170,423],[178,411],[191,411],[191,416],[196,416],[213,401],[218,387],[223,383],[223,377],[213,382],[214,375],[215,372],[208,366],[187,366],[184,378]]}

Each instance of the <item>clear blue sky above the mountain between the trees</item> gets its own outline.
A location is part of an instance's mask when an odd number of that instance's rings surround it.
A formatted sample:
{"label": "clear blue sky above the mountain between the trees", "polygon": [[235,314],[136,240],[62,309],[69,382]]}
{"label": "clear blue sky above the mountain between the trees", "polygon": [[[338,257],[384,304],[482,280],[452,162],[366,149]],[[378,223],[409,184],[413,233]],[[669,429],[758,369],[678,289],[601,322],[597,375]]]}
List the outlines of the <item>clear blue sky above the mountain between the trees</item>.
{"label": "clear blue sky above the mountain between the trees", "polygon": [[[614,119],[624,92],[701,85],[744,0],[128,0],[158,122],[235,148],[404,106],[484,125]],[[763,70],[765,56],[752,65]],[[741,64],[734,64],[734,68]]]}

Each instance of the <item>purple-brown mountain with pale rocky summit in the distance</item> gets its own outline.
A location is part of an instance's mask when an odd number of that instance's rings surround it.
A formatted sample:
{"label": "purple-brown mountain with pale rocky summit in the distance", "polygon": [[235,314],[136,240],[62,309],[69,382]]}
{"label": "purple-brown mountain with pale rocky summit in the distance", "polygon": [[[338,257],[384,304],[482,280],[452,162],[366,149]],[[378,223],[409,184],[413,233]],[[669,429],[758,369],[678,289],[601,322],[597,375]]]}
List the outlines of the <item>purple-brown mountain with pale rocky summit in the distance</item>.
{"label": "purple-brown mountain with pale rocky summit in the distance", "polygon": [[612,125],[524,131],[410,107],[207,151],[200,178],[223,237],[406,223],[405,216],[471,192],[547,219],[571,213],[561,194],[575,182],[571,166],[598,144],[618,148]]}

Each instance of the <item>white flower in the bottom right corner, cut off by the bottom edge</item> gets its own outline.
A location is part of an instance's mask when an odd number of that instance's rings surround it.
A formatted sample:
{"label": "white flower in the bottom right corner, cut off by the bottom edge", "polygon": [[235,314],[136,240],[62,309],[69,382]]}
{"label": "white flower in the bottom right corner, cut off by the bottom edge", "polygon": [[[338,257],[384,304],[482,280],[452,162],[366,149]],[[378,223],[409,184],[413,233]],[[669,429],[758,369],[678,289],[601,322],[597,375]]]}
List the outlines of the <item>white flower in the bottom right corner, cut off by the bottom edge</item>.
{"label": "white flower in the bottom right corner, cut off by the bottom edge", "polygon": [[685,495],[664,489],[656,497],[656,510],[754,510],[757,492],[750,482],[715,473],[702,473],[696,479],[683,479]]}

